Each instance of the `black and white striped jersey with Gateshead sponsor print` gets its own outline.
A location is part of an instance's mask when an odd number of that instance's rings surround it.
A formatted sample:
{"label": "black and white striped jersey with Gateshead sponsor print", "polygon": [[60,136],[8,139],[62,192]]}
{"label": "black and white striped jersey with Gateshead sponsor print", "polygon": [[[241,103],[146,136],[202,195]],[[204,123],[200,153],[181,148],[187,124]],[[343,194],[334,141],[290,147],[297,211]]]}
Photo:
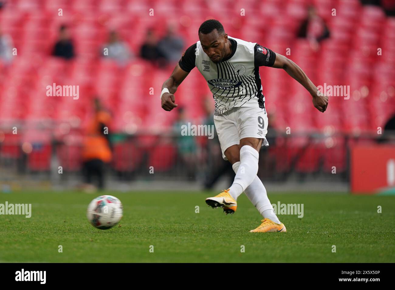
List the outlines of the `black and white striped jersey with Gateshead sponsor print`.
{"label": "black and white striped jersey with Gateshead sponsor print", "polygon": [[188,47],[179,65],[190,72],[195,66],[207,80],[215,100],[214,115],[234,107],[265,107],[262,94],[260,66],[273,66],[276,54],[252,43],[228,36],[232,53],[220,63],[212,62],[200,41]]}

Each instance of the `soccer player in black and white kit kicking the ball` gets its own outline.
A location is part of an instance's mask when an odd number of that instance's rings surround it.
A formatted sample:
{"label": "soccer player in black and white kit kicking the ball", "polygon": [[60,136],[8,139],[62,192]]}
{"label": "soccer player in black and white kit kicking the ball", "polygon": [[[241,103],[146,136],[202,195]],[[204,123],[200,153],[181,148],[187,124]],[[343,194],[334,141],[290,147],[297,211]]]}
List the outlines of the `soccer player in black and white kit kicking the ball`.
{"label": "soccer player in black and white kit kicking the ball", "polygon": [[199,27],[199,41],[182,54],[173,73],[162,86],[162,108],[171,111],[177,104],[177,87],[196,66],[213,93],[214,124],[221,145],[222,157],[236,173],[233,184],[219,195],[209,197],[209,206],[234,213],[237,198],[245,192],[263,216],[260,226],[250,232],[286,232],[267,198],[266,189],[256,175],[261,146],[269,146],[265,97],[262,94],[259,67],[284,69],[312,95],[314,107],[325,112],[328,98],[292,60],[258,43],[228,36],[222,24],[214,19]]}

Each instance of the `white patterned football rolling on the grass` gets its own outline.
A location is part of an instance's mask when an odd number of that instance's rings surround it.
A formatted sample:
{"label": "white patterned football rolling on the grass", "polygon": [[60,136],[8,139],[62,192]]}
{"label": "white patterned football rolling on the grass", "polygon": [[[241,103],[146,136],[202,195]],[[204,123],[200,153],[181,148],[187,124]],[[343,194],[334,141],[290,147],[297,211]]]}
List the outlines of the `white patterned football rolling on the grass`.
{"label": "white patterned football rolling on the grass", "polygon": [[100,230],[107,230],[117,225],[122,219],[123,208],[118,198],[101,195],[90,202],[87,210],[88,221]]}

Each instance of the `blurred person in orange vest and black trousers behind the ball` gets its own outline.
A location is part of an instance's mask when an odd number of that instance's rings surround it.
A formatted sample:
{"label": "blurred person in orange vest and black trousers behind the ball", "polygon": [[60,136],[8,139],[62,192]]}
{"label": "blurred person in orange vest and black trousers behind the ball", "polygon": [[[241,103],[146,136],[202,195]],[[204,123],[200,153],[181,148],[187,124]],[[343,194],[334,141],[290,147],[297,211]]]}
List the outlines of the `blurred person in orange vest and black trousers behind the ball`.
{"label": "blurred person in orange vest and black trousers behind the ball", "polygon": [[108,132],[111,116],[97,98],[94,99],[94,110],[94,117],[85,130],[82,148],[83,173],[87,183],[85,189],[88,191],[95,189],[92,180],[94,176],[98,180],[98,188],[104,188],[105,163],[112,158]]}

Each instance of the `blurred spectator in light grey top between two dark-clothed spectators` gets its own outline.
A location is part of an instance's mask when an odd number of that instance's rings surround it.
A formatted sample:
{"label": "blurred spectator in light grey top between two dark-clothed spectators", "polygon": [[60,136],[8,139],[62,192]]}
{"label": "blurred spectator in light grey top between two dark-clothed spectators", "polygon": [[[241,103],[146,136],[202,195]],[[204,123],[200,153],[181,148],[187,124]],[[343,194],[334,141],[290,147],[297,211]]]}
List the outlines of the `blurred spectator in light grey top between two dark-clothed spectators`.
{"label": "blurred spectator in light grey top between two dark-clothed spectators", "polygon": [[[104,49],[108,49],[108,55],[103,54]],[[116,31],[110,31],[108,42],[103,46],[101,54],[105,58],[111,58],[116,60],[119,65],[124,65],[130,58],[132,54],[128,48],[128,45],[120,40],[120,37]]]}

